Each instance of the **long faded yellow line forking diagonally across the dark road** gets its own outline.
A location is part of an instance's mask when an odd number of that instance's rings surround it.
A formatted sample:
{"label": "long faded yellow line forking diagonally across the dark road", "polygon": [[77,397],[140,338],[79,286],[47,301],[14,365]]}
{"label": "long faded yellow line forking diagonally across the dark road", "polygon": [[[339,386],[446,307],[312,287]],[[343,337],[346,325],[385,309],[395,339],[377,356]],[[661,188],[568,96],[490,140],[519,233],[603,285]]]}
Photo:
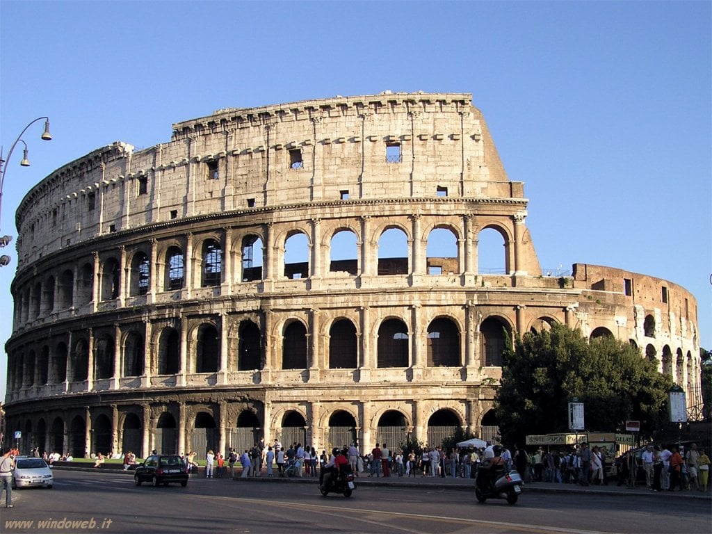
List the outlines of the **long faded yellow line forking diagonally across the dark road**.
{"label": "long faded yellow line forking diagonally across the dark road", "polygon": [[[234,502],[240,502],[240,503],[264,505],[264,501],[261,499],[246,498],[246,497],[222,497],[222,496],[209,496],[209,495],[194,495],[192,497],[204,498],[204,499],[216,500],[216,501],[234,501]],[[523,530],[525,532],[531,532],[531,533],[570,534],[570,532],[571,532],[571,528],[559,528],[559,527],[552,527],[552,526],[533,526],[533,525],[529,525],[526,523],[507,523],[505,521],[488,521],[488,520],[483,520],[483,519],[470,519],[470,518],[452,518],[452,517],[446,517],[446,516],[441,516],[441,515],[425,515],[425,514],[419,514],[419,513],[391,512],[391,511],[385,511],[385,510],[372,510],[370,508],[362,509],[362,508],[343,507],[343,508],[337,508],[337,510],[335,511],[333,503],[330,505],[320,505],[320,504],[309,504],[309,503],[289,503],[289,502],[271,501],[270,506],[279,506],[281,508],[290,508],[290,509],[298,509],[298,510],[303,510],[304,508],[311,508],[315,512],[325,513],[326,515],[335,515],[337,517],[343,517],[346,513],[362,514],[355,519],[365,522],[365,523],[375,523],[375,524],[379,524],[379,525],[387,525],[389,528],[399,528],[400,530],[407,530],[407,532],[411,532],[411,533],[421,533],[422,532],[422,534],[427,534],[430,531],[429,530],[424,530],[424,531],[412,530],[410,528],[399,526],[399,525],[392,525],[390,523],[382,523],[382,522],[377,522],[377,521],[373,521],[373,520],[367,520],[365,518],[365,515],[387,515],[387,516],[393,517],[393,518],[408,518],[408,519],[417,518],[417,519],[426,520],[426,521],[437,521],[439,523],[454,523],[454,524],[459,524],[459,525],[472,525],[472,526],[478,525],[478,526],[486,527],[489,529],[496,528],[497,530],[507,530],[507,529],[515,528],[518,530]],[[601,530],[577,530],[576,532],[577,532],[577,534],[615,534],[614,531],[604,532]]]}

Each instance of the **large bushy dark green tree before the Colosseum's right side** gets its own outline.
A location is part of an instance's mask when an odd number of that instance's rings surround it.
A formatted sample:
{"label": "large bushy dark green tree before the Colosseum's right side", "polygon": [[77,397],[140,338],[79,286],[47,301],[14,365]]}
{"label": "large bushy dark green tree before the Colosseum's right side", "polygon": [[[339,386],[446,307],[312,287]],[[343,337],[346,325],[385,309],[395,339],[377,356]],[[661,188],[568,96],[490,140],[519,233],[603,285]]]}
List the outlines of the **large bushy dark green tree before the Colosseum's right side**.
{"label": "large bushy dark green tree before the Colosseum's right side", "polygon": [[567,432],[568,403],[584,403],[587,430],[623,431],[639,420],[643,435],[662,429],[671,377],[639,350],[613,337],[589,342],[580,330],[553,325],[525,333],[503,352],[495,409],[505,443],[528,434]]}

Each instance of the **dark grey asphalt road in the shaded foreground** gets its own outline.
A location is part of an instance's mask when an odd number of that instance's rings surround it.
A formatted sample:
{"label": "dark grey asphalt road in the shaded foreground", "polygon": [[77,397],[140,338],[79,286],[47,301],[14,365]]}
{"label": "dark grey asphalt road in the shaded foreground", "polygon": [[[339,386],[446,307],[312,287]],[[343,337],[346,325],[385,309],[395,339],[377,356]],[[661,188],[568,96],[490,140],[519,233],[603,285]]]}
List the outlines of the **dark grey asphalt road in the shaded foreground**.
{"label": "dark grey asphalt road in the shaded foreground", "polygon": [[[703,533],[709,496],[623,488],[525,486],[520,501],[478,504],[470,481],[362,478],[355,495],[322,497],[314,481],[192,478],[187,488],[133,485],[127,473],[56,471],[55,488],[14,492],[0,530],[107,533]],[[535,485],[543,486],[543,485]],[[553,486],[553,485],[548,485]],[[581,488],[583,489],[583,488]],[[40,528],[40,520],[93,528]],[[31,520],[21,527],[9,520]]]}

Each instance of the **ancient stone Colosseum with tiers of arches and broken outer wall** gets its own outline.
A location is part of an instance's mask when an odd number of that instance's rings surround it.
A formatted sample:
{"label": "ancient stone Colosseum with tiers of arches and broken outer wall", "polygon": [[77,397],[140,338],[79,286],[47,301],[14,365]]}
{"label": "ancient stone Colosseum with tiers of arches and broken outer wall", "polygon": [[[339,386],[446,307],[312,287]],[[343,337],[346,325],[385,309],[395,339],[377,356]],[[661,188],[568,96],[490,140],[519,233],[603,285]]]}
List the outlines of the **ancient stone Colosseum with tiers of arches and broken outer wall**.
{"label": "ancient stone Colosseum with tiers of arches and broken outer wall", "polygon": [[228,108],[43,179],[16,212],[7,438],[80,457],[491,437],[505,337],[555,322],[699,392],[693,295],[543,272],[471,98]]}

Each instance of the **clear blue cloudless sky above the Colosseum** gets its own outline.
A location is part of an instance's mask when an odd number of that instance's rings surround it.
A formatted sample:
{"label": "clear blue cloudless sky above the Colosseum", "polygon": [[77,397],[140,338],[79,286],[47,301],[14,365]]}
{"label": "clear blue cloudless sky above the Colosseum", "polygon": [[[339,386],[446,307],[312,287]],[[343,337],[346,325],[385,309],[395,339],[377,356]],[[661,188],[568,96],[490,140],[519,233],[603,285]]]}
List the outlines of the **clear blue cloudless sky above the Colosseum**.
{"label": "clear blue cloudless sky above the Colosseum", "polygon": [[[483,110],[543,268],[584,262],[679,283],[712,348],[710,1],[0,2],[1,233],[54,169],[173,122],[383,90]],[[6,152],[5,152],[6,153]],[[14,254],[14,247],[9,247]],[[4,252],[8,252],[6,249]],[[0,340],[11,334],[0,268]],[[5,392],[0,353],[0,396]]]}

